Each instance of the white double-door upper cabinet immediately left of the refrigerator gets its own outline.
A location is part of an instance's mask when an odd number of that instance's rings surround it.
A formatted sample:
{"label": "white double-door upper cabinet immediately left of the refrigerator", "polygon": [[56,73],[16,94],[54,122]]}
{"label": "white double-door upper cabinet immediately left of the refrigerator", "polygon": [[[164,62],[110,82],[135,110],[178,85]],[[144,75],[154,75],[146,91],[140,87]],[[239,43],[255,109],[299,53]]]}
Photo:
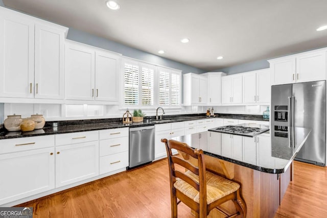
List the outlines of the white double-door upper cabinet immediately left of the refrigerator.
{"label": "white double-door upper cabinet immediately left of the refrigerator", "polygon": [[270,102],[270,71],[255,70],[243,74],[243,103]]}

